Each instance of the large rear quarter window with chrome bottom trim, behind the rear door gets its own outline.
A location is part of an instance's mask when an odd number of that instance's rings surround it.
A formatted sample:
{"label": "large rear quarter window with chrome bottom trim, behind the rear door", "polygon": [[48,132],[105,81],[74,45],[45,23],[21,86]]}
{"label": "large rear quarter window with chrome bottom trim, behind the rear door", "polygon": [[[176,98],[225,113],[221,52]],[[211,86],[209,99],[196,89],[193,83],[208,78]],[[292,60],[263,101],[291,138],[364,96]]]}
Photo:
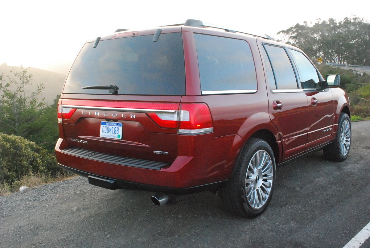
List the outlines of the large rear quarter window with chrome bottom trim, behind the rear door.
{"label": "large rear quarter window with chrome bottom trim, behind the rear door", "polygon": [[257,90],[255,65],[246,41],[204,34],[194,37],[202,94]]}

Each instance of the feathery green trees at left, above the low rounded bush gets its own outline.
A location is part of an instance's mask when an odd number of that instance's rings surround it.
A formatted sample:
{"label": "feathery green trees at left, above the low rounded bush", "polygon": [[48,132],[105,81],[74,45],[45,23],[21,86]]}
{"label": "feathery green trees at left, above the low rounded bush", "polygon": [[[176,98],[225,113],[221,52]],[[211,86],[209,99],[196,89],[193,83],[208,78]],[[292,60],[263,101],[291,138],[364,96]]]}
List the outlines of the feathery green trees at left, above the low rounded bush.
{"label": "feathery green trees at left, above the low rounded bush", "polygon": [[3,87],[0,98],[0,132],[27,138],[53,151],[58,137],[56,108],[46,106],[44,98],[40,97],[44,89],[42,83],[38,84],[34,92],[26,92],[32,79],[27,69],[21,67],[19,72],[11,71],[14,78],[8,76],[10,83],[17,86],[15,90],[10,89],[10,84]]}

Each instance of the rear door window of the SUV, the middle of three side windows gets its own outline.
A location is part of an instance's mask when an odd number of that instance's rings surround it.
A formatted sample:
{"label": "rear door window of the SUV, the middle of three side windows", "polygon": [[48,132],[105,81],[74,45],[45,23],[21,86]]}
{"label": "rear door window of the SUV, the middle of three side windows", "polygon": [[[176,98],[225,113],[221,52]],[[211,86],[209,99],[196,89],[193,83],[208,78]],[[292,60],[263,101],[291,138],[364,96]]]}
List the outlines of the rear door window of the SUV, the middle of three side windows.
{"label": "rear door window of the SUV, the middle of three side windows", "polygon": [[273,70],[273,76],[276,82],[277,89],[296,89],[297,80],[295,73],[293,71],[292,63],[283,47],[269,46],[264,44],[266,53],[268,55],[269,61],[266,63],[271,63]]}

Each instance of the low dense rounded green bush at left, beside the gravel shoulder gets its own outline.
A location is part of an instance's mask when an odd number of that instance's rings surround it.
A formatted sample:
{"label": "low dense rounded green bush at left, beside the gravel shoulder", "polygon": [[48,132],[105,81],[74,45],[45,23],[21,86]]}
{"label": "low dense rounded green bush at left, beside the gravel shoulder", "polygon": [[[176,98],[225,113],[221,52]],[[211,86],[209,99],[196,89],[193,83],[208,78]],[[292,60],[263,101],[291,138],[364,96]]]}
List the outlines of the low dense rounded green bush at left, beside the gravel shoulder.
{"label": "low dense rounded green bush at left, beside the gravel shoulder", "polygon": [[30,172],[61,172],[53,154],[23,137],[0,133],[0,184],[13,184]]}

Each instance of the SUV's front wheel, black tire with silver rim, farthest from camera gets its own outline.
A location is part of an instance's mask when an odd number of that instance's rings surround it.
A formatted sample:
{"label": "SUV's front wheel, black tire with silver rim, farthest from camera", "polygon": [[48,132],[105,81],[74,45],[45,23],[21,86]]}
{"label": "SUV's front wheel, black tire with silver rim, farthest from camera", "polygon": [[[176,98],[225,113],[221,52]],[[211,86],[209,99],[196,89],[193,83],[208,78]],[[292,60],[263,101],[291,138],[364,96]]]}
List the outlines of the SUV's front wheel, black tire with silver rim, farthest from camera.
{"label": "SUV's front wheel, black tire with silver rim, farthest from camera", "polygon": [[340,113],[337,135],[332,143],[323,148],[324,157],[331,161],[344,161],[351,147],[351,119],[346,113]]}

